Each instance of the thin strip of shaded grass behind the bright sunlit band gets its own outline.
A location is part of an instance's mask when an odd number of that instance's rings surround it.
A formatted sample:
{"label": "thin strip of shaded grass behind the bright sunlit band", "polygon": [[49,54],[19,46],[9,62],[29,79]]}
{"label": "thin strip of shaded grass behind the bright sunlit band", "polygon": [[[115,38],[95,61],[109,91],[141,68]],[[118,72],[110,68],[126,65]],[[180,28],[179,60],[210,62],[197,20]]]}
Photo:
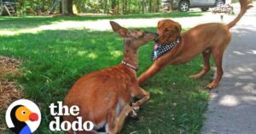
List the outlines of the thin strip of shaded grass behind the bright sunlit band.
{"label": "thin strip of shaded grass behind the bright sunlit band", "polygon": [[1,30],[20,30],[35,28],[40,25],[50,25],[60,21],[88,21],[88,20],[114,20],[114,19],[150,19],[150,18],[181,18],[201,16],[201,12],[173,12],[169,14],[131,14],[117,16],[67,16],[67,17],[0,17]]}

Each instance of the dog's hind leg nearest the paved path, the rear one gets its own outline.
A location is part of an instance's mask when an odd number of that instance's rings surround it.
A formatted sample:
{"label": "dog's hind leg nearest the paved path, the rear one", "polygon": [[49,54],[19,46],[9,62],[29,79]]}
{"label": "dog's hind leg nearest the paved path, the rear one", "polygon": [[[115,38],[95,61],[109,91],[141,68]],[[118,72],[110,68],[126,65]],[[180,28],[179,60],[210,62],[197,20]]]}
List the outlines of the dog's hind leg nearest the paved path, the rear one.
{"label": "dog's hind leg nearest the paved path, the rear one", "polygon": [[215,49],[212,50],[213,59],[215,62],[215,66],[217,68],[217,73],[215,79],[207,86],[208,88],[212,89],[218,87],[218,82],[221,80],[224,71],[222,69],[222,59],[224,54],[224,49]]}

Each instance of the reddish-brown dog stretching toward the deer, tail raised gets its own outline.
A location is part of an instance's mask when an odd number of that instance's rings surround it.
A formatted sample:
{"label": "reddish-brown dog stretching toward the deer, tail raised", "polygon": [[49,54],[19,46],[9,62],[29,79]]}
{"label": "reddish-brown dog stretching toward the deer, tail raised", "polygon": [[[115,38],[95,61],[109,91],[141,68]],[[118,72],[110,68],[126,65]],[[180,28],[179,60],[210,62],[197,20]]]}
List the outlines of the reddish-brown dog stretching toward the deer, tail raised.
{"label": "reddish-brown dog stretching toward the deer, tail raised", "polygon": [[217,67],[217,76],[207,87],[217,87],[223,75],[222,59],[224,50],[231,40],[230,28],[236,25],[248,8],[253,7],[250,5],[252,0],[240,0],[240,3],[240,13],[228,25],[220,23],[203,24],[180,34],[182,28],[177,22],[160,20],[157,26],[157,33],[160,35],[157,43],[169,44],[177,41],[177,38],[180,38],[181,42],[173,47],[171,51],[154,60],[154,64],[138,78],[139,83],[142,84],[148,80],[150,76],[159,72],[167,64],[183,64],[194,59],[199,53],[202,53],[203,69],[198,74],[191,75],[190,77],[198,79],[205,75],[210,70],[209,59],[212,55]]}

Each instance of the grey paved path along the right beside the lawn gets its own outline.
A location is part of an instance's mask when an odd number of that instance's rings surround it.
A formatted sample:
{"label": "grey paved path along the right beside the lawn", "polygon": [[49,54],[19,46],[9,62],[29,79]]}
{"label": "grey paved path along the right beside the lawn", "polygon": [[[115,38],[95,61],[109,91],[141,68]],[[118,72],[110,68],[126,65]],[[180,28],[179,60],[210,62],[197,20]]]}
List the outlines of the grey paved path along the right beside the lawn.
{"label": "grey paved path along the right beside the lawn", "polygon": [[[255,6],[255,4],[254,4]],[[256,8],[231,29],[224,77],[211,92],[202,134],[256,133]]]}

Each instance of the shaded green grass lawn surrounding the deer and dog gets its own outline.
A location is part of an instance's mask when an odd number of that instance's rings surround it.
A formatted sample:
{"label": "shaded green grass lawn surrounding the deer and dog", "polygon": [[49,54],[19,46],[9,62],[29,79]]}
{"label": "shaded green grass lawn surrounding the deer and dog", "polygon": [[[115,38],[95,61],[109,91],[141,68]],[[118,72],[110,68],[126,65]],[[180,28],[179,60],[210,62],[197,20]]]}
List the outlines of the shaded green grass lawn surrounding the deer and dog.
{"label": "shaded green grass lawn surrounding the deer and dog", "polygon": [[[0,18],[0,25],[10,30],[29,25],[42,25],[59,20],[79,18]],[[83,20],[83,19],[82,19]],[[28,25],[28,26],[29,26]],[[1,28],[0,28],[1,29]],[[155,31],[155,28],[144,28]],[[1,30],[0,30],[1,32]],[[152,61],[153,43],[141,47],[138,75],[147,70]],[[113,31],[55,30],[0,36],[0,55],[23,59],[20,71],[24,75],[13,77],[24,87],[26,98],[38,103],[42,124],[38,133],[49,131],[49,103],[63,100],[73,83],[82,75],[119,64],[122,60],[123,41]],[[138,120],[128,119],[121,133],[199,133],[203,114],[207,109],[207,84],[212,71],[201,80],[189,75],[201,70],[201,56],[193,61],[168,66],[154,75],[143,86],[151,99],[138,112]],[[4,111],[0,121],[3,122]],[[8,132],[8,131],[7,131]]]}

